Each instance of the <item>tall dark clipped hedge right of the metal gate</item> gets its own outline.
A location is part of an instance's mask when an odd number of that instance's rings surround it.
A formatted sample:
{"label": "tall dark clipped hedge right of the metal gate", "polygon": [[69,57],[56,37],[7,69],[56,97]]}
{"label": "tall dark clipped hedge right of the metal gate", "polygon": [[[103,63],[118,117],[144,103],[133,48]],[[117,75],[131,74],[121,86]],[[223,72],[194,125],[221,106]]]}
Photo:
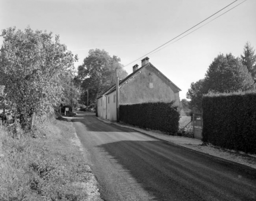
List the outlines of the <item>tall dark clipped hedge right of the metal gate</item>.
{"label": "tall dark clipped hedge right of the metal gate", "polygon": [[204,96],[203,141],[256,154],[256,93]]}

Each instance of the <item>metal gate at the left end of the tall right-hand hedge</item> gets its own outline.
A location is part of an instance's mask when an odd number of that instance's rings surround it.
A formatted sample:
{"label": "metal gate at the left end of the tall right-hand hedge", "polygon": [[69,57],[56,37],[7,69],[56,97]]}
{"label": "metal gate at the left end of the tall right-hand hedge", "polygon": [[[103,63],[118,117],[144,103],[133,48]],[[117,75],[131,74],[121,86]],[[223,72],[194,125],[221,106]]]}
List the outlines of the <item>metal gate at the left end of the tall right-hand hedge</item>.
{"label": "metal gate at the left end of the tall right-hand hedge", "polygon": [[203,113],[202,110],[194,110],[193,114],[193,131],[194,138],[202,139],[202,126],[203,126]]}

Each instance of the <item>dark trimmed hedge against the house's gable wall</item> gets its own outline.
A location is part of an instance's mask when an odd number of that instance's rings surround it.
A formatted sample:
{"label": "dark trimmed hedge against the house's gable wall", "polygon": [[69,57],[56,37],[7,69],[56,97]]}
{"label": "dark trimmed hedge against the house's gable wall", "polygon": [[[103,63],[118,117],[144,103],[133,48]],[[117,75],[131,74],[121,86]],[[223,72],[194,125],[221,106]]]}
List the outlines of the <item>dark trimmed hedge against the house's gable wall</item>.
{"label": "dark trimmed hedge against the house's gable wall", "polygon": [[180,114],[174,102],[120,105],[119,120],[142,128],[176,134]]}

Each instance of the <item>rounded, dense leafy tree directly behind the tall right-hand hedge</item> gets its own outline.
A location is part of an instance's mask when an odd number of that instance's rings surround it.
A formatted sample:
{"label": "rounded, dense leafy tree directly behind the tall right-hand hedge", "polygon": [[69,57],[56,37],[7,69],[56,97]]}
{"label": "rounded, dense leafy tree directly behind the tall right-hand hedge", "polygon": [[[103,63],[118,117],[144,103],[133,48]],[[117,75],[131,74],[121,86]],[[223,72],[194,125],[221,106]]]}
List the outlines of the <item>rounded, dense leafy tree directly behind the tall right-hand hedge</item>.
{"label": "rounded, dense leafy tree directly behind the tall right-hand hedge", "polygon": [[253,89],[254,81],[239,58],[229,53],[219,54],[210,64],[204,85],[206,91],[228,93]]}

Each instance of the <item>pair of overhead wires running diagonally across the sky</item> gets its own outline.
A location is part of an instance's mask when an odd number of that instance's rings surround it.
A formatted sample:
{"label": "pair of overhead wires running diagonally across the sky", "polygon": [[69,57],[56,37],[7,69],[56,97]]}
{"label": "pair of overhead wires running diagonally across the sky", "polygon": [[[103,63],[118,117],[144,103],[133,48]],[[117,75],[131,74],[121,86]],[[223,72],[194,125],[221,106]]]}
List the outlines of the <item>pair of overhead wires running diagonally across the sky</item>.
{"label": "pair of overhead wires running diagonally across the sky", "polygon": [[[214,15],[218,14],[220,11],[222,11],[222,10],[224,10],[224,9],[228,8],[229,6],[231,6],[231,5],[232,5],[233,3],[235,3],[236,1],[238,1],[238,0],[233,1],[233,2],[232,2],[232,3],[230,3],[229,5],[225,6],[223,9],[220,9],[220,10],[219,10],[219,11],[217,11],[216,13],[212,14],[210,17],[213,17]],[[244,1],[246,1],[246,0],[244,0]],[[244,1],[243,1],[243,2],[244,2]],[[242,3],[243,3],[243,2],[242,2]],[[240,3],[240,4],[241,4],[241,3]],[[238,5],[240,5],[240,4],[238,4]],[[237,6],[238,6],[238,5],[237,5]],[[235,6],[235,7],[237,7],[237,6]],[[233,7],[232,9],[234,9],[235,7]],[[229,9],[229,10],[231,10],[231,9]],[[228,10],[228,11],[229,11],[229,10]],[[228,11],[227,11],[227,12],[228,12]],[[226,13],[226,12],[225,12],[225,13]],[[223,13],[223,14],[225,14],[225,13]],[[222,14],[222,15],[223,15],[223,14]],[[220,16],[221,16],[221,15],[220,15]],[[219,16],[219,17],[220,17],[220,16]],[[155,52],[156,50],[158,50],[159,48],[163,47],[164,45],[166,45],[166,44],[168,44],[168,43],[172,42],[173,40],[175,40],[175,39],[176,39],[176,38],[178,38],[179,36],[181,36],[181,35],[183,35],[183,34],[187,33],[187,32],[188,32],[188,31],[190,31],[192,28],[194,28],[194,27],[196,27],[196,26],[200,25],[201,23],[203,23],[204,21],[206,21],[206,20],[207,20],[207,19],[209,19],[210,17],[207,17],[206,19],[202,20],[201,22],[199,22],[199,23],[198,23],[198,24],[196,24],[195,26],[192,26],[191,28],[189,28],[189,29],[187,29],[186,31],[184,31],[182,34],[177,35],[177,36],[176,36],[176,37],[174,37],[173,39],[171,39],[171,40],[167,41],[165,44],[160,45],[159,47],[155,48],[155,49],[154,49],[154,50],[152,50],[151,52],[148,52],[148,53],[146,53],[145,55],[143,55],[143,56],[139,57],[138,59],[136,59],[136,60],[134,60],[134,61],[132,61],[132,62],[128,63],[128,64],[127,64],[127,65],[125,65],[124,67],[126,67],[126,66],[130,65],[131,63],[133,63],[133,62],[135,62],[135,61],[138,61],[138,60],[140,60],[140,59],[144,58],[146,55],[148,55],[148,54],[150,54],[150,53],[152,53],[152,52]],[[218,17],[216,17],[216,18],[218,18]],[[214,19],[216,19],[216,18],[214,18]],[[214,19],[213,19],[213,20],[214,20]],[[211,21],[213,21],[213,20],[211,20]],[[210,22],[211,22],[211,21],[210,21]],[[209,22],[209,23],[210,23],[210,22]],[[208,23],[207,23],[207,24],[208,24]],[[203,25],[203,26],[204,26],[204,25]],[[200,26],[200,27],[202,27],[202,26]],[[200,27],[199,27],[199,28],[200,28]],[[197,28],[197,29],[199,29],[199,28]],[[197,29],[196,29],[196,30],[197,30]],[[194,31],[195,31],[195,30],[194,30]],[[194,31],[192,31],[192,32],[194,32]],[[191,32],[191,33],[192,33],[192,32]],[[189,34],[191,34],[191,33],[189,33]],[[187,34],[187,35],[189,35],[189,34]],[[186,36],[186,35],[185,35],[185,36]],[[183,36],[183,37],[185,37],[185,36]],[[182,37],[182,38],[183,38],[183,37]],[[181,38],[180,38],[180,39],[181,39]],[[180,40],[180,39],[179,39],[179,40]],[[177,41],[178,41],[178,40],[177,40]],[[163,48],[162,48],[162,49],[163,49]],[[157,51],[157,52],[158,52],[158,51]]]}

